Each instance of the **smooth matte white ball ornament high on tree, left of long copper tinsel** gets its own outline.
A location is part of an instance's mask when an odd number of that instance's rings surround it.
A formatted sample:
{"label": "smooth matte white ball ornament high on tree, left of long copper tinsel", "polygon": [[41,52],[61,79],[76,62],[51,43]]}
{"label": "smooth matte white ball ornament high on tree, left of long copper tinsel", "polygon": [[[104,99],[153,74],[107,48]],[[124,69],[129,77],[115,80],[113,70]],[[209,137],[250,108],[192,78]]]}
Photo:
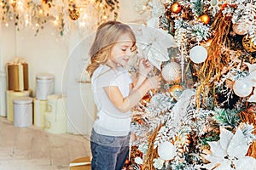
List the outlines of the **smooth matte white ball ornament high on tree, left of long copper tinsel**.
{"label": "smooth matte white ball ornament high on tree, left of long copper tinsel", "polygon": [[207,49],[202,46],[195,46],[189,52],[190,59],[196,64],[205,62],[207,55]]}

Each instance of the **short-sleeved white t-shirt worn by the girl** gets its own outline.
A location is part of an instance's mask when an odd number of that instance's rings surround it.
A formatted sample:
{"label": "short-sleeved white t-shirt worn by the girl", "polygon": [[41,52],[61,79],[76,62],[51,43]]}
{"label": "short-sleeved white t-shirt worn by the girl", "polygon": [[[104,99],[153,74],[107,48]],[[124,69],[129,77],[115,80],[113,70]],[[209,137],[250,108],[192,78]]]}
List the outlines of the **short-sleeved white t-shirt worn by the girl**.
{"label": "short-sleeved white t-shirt worn by the girl", "polygon": [[119,67],[112,70],[108,65],[100,65],[91,77],[91,87],[97,106],[97,118],[93,127],[96,133],[108,136],[125,136],[130,132],[131,111],[119,111],[108,99],[104,87],[116,86],[123,97],[130,93],[131,77],[128,71]]}

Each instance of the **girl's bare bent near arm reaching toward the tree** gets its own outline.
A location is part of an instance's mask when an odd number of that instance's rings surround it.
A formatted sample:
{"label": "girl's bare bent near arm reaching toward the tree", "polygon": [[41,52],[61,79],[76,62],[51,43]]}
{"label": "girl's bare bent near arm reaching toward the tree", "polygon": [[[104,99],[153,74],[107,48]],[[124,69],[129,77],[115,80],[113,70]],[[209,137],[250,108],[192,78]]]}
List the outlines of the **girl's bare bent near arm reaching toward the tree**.
{"label": "girl's bare bent near arm reaching toward the tree", "polygon": [[144,80],[143,83],[137,88],[133,88],[131,94],[126,98],[119,91],[116,86],[105,87],[104,90],[108,95],[108,98],[113,103],[113,105],[122,112],[130,111],[132,107],[137,105],[137,103],[143,98],[148,90],[159,88],[159,77],[149,77]]}

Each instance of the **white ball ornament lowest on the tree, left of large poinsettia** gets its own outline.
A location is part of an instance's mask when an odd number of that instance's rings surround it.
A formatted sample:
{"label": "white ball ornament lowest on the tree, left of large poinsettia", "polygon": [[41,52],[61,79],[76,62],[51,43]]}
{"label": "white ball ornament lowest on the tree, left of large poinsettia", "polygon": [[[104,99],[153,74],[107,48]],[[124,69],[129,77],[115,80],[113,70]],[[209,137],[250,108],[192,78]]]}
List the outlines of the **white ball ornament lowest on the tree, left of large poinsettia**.
{"label": "white ball ornament lowest on the tree, left of large poinsettia", "polygon": [[158,155],[162,160],[171,160],[176,156],[176,148],[171,142],[166,141],[159,145]]}

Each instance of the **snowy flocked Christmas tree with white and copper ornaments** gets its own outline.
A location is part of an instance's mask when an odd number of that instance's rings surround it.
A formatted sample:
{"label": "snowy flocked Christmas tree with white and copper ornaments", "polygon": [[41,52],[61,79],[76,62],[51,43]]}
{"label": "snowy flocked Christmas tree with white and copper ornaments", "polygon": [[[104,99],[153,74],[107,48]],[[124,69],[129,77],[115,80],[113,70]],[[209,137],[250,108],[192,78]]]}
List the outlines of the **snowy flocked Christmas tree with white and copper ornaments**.
{"label": "snowy flocked Christmas tree with white and copper ornaments", "polygon": [[[127,169],[255,169],[256,1],[147,1],[174,37],[134,108]],[[152,26],[152,19],[148,20]]]}

